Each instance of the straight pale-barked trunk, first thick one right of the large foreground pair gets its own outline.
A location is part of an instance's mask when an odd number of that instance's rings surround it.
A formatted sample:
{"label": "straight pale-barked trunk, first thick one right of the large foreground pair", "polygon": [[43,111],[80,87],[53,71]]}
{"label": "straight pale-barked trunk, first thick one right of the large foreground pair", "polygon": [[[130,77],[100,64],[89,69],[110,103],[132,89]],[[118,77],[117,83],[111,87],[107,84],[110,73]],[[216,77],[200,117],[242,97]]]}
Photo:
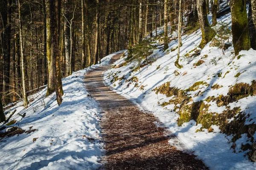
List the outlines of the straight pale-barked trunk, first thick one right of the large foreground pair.
{"label": "straight pale-barked trunk, first thick one right of the large foreground pair", "polygon": [[64,30],[65,30],[65,58],[66,58],[66,77],[70,75],[70,0],[65,0],[65,21],[64,21]]}

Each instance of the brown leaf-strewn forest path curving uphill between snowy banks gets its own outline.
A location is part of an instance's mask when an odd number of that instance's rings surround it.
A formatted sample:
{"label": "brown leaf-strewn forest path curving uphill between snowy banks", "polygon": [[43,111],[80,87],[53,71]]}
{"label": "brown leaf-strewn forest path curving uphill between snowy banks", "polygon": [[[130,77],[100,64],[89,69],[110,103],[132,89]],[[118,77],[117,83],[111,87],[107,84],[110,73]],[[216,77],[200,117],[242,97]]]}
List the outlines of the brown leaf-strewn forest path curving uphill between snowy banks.
{"label": "brown leaf-strewn forest path curving uphill between snowy banks", "polygon": [[103,115],[101,127],[107,170],[199,170],[207,169],[194,155],[176,150],[157,127],[153,114],[143,113],[136,105],[104,84],[102,73],[122,54],[112,57],[109,65],[85,75],[87,91],[99,103]]}

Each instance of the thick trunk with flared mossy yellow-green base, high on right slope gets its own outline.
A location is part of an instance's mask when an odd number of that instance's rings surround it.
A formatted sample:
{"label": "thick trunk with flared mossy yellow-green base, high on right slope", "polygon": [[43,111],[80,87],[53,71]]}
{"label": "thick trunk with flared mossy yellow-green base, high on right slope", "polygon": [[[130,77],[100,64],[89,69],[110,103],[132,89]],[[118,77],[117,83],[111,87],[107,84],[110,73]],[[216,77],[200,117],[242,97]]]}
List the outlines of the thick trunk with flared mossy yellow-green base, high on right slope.
{"label": "thick trunk with flared mossy yellow-green base, high on right slope", "polygon": [[215,31],[210,27],[207,10],[206,10],[206,1],[205,0],[197,0],[197,9],[198,9],[198,18],[202,31],[202,41],[199,45],[200,48],[204,48],[204,46],[215,37]]}

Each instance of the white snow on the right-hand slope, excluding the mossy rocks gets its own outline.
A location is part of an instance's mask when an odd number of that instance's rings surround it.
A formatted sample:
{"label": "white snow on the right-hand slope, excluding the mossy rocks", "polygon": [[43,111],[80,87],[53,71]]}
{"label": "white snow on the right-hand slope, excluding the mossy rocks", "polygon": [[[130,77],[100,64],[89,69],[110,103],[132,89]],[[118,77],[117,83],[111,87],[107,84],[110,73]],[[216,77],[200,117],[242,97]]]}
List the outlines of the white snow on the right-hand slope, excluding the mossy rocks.
{"label": "white snow on the right-hand slope, excluding the mossy rocks", "polygon": [[[208,18],[211,23],[211,16],[209,15]],[[218,23],[221,22],[231,26],[231,14],[219,18]],[[159,28],[158,32],[161,31],[163,31],[163,28]],[[232,42],[232,36],[225,40],[225,42],[228,41]],[[189,96],[192,96],[193,101],[197,102],[205,100],[209,96],[218,97],[221,94],[226,96],[230,87],[236,83],[243,82],[251,85],[252,81],[256,80],[256,51],[253,49],[241,51],[239,57],[235,57],[233,47],[228,48],[224,51],[225,54],[223,54],[221,48],[210,47],[211,43],[208,43],[199,56],[186,57],[186,54],[191,55],[193,53],[191,51],[197,48],[200,42],[201,30],[182,37],[183,45],[180,48],[180,64],[183,65],[183,68],[181,69],[177,69],[174,65],[177,58],[177,49],[171,51],[171,49],[177,47],[177,40],[174,40],[169,43],[168,52],[161,51],[160,48],[163,46],[158,46],[159,49],[155,50],[151,56],[157,58],[155,62],[140,68],[139,71],[132,71],[136,68],[137,61],[132,61],[120,68],[112,68],[105,72],[105,82],[119,94],[137,102],[145,111],[154,113],[160,122],[163,123],[163,126],[168,128],[169,134],[167,135],[174,134],[183,144],[182,146],[176,145],[176,138],[170,139],[170,143],[181,150],[193,152],[210,169],[256,169],[256,163],[250,161],[246,155],[248,150],[241,150],[242,144],[251,144],[246,134],[242,134],[241,138],[236,141],[236,150],[234,150],[231,148],[233,136],[221,133],[216,125],[212,125],[213,133],[208,133],[207,129],[196,133],[196,130],[199,130],[202,125],[197,125],[194,120],[186,122],[179,127],[177,125],[179,118],[177,114],[178,109],[176,112],[174,111],[175,105],[170,104],[165,107],[160,105],[163,102],[168,102],[173,96],[166,97],[165,94],[156,94],[155,91],[152,91],[166,82],[170,82],[170,87],[185,90],[195,82],[204,81],[207,85],[200,85],[197,90],[189,92]],[[200,59],[204,62],[199,66],[194,65]],[[116,61],[114,65],[120,65],[123,62],[125,62],[125,57]],[[175,76],[175,70],[179,73],[178,76]],[[116,76],[122,77],[122,79],[114,82],[112,79]],[[131,82],[131,79],[134,79],[134,77],[138,79],[137,82]],[[218,89],[211,88],[216,84],[223,87]],[[200,92],[204,92],[203,95]],[[208,112],[221,114],[227,109],[225,106],[218,107],[215,102],[207,104],[210,104]],[[256,96],[239,99],[237,102],[230,103],[227,107],[230,107],[230,109],[240,107],[241,113],[247,115],[246,124],[256,122]],[[231,122],[232,120],[229,121]],[[253,142],[255,142],[256,134],[253,137]]]}

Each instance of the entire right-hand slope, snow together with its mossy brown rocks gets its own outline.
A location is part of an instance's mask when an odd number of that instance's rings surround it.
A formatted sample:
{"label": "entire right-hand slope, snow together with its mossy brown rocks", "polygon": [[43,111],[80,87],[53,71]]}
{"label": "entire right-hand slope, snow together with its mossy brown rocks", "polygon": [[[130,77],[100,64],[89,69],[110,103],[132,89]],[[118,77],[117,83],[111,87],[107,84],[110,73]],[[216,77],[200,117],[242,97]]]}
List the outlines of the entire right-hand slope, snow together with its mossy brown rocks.
{"label": "entire right-hand slope, snow together with its mossy brown rocks", "polygon": [[[221,22],[231,26],[231,15],[219,18]],[[105,72],[105,82],[154,113],[168,128],[167,135],[177,136],[183,145],[177,145],[176,138],[170,143],[195,153],[210,169],[256,169],[247,156],[254,151],[248,146],[256,141],[256,51],[235,56],[229,47],[223,54],[210,42],[198,53],[200,42],[201,30],[182,36],[181,69],[174,65],[177,40],[173,40],[167,51],[158,45],[151,55],[155,62],[140,67],[134,60],[112,68]],[[225,42],[232,42],[231,35]],[[126,55],[114,65],[125,62]]]}

